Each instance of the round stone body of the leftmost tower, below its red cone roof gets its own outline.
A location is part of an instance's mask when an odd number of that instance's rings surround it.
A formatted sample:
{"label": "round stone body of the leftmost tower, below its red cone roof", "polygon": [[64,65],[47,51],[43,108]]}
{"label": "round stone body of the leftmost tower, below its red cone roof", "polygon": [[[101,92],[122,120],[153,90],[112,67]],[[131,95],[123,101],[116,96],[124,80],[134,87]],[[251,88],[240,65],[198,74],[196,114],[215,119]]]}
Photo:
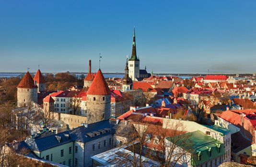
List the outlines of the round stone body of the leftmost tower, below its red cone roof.
{"label": "round stone body of the leftmost tower, below its red cone roof", "polygon": [[37,88],[17,88],[18,107],[37,103]]}

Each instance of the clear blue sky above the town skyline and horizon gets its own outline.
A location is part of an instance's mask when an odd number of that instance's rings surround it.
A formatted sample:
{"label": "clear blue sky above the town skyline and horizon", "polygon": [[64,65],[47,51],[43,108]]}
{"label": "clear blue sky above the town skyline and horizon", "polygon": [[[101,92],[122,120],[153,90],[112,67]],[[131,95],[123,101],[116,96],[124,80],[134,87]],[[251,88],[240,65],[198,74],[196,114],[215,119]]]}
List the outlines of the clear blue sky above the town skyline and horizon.
{"label": "clear blue sky above the town skyline and horizon", "polygon": [[0,73],[255,73],[256,0],[0,0]]}

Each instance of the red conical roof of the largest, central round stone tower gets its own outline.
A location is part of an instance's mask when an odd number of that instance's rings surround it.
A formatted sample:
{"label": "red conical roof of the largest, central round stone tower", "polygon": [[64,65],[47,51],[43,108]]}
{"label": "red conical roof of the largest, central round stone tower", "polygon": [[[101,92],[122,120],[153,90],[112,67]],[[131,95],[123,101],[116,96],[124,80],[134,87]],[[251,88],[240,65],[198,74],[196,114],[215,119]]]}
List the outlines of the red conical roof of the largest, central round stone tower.
{"label": "red conical roof of the largest, central round stone tower", "polygon": [[99,69],[98,73],[96,73],[95,78],[93,79],[93,82],[91,86],[89,87],[87,94],[91,95],[106,95],[111,94],[109,87],[105,81],[105,78]]}

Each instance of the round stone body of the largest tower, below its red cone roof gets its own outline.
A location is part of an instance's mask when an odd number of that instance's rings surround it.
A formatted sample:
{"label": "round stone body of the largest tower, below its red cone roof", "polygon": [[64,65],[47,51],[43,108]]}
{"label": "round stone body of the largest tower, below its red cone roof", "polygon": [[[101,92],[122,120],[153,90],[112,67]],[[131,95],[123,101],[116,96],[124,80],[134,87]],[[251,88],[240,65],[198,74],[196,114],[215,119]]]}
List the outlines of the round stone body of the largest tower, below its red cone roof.
{"label": "round stone body of the largest tower, below its red cone roof", "polygon": [[107,120],[110,118],[110,94],[87,94],[86,104],[88,124]]}

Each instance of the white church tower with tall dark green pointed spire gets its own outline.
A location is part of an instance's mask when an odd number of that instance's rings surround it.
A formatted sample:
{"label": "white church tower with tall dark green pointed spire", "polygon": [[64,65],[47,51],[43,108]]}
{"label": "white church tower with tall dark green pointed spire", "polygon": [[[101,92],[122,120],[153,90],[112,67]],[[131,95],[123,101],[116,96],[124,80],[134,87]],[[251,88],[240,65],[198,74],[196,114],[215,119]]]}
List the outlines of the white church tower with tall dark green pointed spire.
{"label": "white church tower with tall dark green pointed spire", "polygon": [[136,42],[135,42],[135,28],[133,32],[132,52],[131,58],[128,62],[129,77],[134,81],[135,78],[140,78],[140,59],[136,54]]}

